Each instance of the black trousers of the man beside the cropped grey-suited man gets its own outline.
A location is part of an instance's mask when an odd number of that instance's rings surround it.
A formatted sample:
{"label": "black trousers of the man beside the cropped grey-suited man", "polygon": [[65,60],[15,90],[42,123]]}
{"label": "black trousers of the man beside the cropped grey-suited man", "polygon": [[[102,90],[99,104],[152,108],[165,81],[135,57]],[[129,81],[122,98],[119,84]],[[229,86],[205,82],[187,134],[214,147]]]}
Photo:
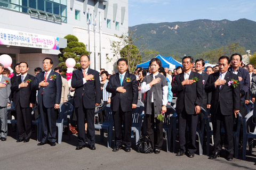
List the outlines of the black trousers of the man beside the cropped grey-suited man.
{"label": "black trousers of the man beside the cropped grey-suited man", "polygon": [[16,107],[17,113],[17,124],[18,124],[18,137],[19,139],[30,139],[30,135],[32,133],[32,109],[30,107],[23,108],[18,103]]}

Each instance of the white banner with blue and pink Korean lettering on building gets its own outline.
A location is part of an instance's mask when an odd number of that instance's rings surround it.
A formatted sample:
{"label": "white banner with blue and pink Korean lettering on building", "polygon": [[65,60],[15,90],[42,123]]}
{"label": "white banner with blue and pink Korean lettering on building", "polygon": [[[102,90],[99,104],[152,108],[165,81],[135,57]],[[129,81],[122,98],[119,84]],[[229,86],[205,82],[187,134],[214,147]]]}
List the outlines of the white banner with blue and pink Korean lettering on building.
{"label": "white banner with blue and pink Korean lettering on building", "polygon": [[59,49],[59,37],[0,28],[0,44],[30,48]]}

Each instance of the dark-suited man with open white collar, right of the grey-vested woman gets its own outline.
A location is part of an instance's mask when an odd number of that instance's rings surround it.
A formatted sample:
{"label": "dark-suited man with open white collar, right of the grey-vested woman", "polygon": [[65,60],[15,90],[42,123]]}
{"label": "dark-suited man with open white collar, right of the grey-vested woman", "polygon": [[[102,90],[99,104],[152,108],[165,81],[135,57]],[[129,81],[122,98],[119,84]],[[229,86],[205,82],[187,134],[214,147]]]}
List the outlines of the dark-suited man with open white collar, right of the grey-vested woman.
{"label": "dark-suited man with open white collar, right of the grey-vested woman", "polygon": [[[177,156],[184,155],[187,149],[188,157],[190,158],[194,157],[194,153],[197,150],[196,127],[203,99],[202,75],[191,70],[193,65],[193,57],[183,57],[183,72],[175,76],[172,85],[172,92],[178,97],[176,111],[179,116],[180,151]],[[189,139],[186,140],[187,124],[189,126]]]}

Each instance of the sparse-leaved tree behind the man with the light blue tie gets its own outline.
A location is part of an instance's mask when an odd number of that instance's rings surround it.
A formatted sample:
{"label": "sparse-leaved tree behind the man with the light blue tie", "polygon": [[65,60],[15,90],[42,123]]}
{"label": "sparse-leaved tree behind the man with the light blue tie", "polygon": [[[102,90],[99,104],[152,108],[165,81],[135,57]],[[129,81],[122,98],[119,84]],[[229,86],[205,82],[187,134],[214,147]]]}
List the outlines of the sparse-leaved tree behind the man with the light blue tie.
{"label": "sparse-leaved tree behind the man with the light blue tie", "polygon": [[[134,72],[136,65],[141,63],[140,49],[138,49],[134,43],[141,37],[136,37],[134,31],[129,31],[121,36],[115,35],[118,41],[110,41],[110,46],[113,49],[113,53],[117,57],[126,58],[129,63],[130,72]],[[117,58],[118,59],[118,58]],[[116,60],[117,61],[117,60]],[[116,63],[114,58],[107,57],[107,63]]]}

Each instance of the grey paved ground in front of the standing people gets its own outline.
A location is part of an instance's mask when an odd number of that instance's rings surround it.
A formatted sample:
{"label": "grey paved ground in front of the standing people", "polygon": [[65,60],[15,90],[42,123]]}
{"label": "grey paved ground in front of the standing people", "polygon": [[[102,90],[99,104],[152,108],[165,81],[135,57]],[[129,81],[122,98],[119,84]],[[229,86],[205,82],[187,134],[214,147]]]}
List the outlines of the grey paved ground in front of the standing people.
{"label": "grey paved ground in front of the standing people", "polygon": [[[99,132],[96,131],[96,150],[83,148],[75,150],[77,145],[76,135],[63,135],[62,143],[55,147],[50,145],[37,146],[35,133],[28,143],[17,143],[15,132],[11,132],[7,141],[0,141],[0,169],[256,169],[256,154],[247,156],[242,160],[242,150],[239,159],[228,162],[225,151],[222,150],[221,158],[210,160],[206,155],[177,157],[172,152],[166,152],[166,142],[160,154],[140,154],[135,150],[125,152],[111,151],[107,148],[107,138],[100,142]],[[132,141],[135,147],[135,140]],[[178,143],[177,143],[178,147]],[[177,148],[178,149],[178,148]]]}

